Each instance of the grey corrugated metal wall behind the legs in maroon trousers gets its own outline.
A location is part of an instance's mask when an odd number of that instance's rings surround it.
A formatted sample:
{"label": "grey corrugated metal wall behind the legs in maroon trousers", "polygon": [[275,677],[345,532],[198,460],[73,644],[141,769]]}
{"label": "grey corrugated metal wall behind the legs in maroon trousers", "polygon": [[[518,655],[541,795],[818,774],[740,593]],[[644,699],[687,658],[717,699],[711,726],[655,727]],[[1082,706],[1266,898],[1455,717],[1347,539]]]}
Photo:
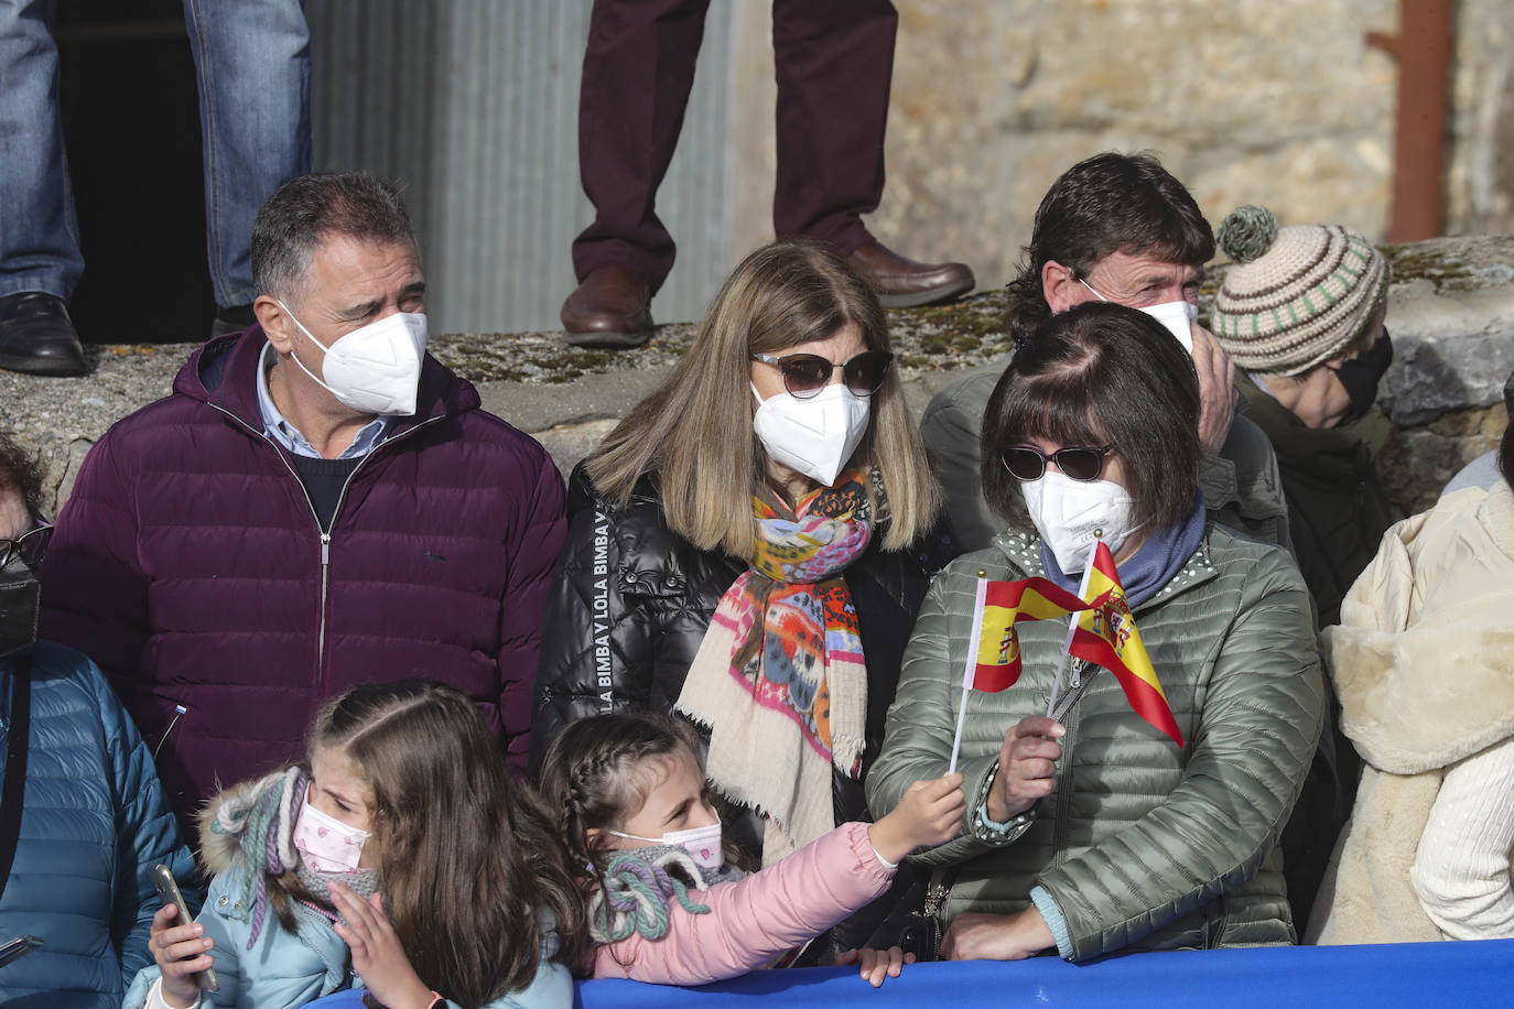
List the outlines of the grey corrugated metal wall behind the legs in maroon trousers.
{"label": "grey corrugated metal wall behind the legs in maroon trousers", "polygon": [[[433,333],[560,328],[589,0],[309,0],[316,165],[406,183]],[[657,210],[678,263],[653,306],[696,319],[728,263],[731,11],[715,3]]]}

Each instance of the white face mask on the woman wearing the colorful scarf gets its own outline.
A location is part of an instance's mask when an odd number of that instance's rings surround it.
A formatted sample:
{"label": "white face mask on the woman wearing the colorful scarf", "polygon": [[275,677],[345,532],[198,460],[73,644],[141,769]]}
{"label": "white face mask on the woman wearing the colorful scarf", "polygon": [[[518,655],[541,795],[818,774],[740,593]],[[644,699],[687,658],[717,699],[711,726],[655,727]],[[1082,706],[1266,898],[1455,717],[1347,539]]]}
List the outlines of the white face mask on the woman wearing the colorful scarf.
{"label": "white face mask on the woman wearing the colorful scarf", "polygon": [[752,395],[762,404],[752,414],[752,431],[768,455],[810,480],[834,486],[868,433],[872,399],[839,383],[808,399],[787,392],[763,399],[757,386]]}

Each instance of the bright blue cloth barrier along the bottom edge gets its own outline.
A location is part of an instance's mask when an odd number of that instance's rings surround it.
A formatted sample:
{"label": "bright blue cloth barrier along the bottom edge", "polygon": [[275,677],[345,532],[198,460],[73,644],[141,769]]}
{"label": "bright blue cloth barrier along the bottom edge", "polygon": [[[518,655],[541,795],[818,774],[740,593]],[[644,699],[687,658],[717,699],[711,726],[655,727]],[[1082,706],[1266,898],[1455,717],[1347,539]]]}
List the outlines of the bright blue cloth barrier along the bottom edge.
{"label": "bright blue cloth barrier along the bottom edge", "polygon": [[[1204,953],[1140,953],[1073,967],[1055,958],[1017,964],[913,964],[874,991],[851,968],[757,971],[702,988],[628,980],[577,986],[575,1006],[706,1007],[762,998],[763,1006],[1508,1006],[1514,939],[1402,945],[1301,945]],[[362,1004],[356,992],[326,1009]]]}

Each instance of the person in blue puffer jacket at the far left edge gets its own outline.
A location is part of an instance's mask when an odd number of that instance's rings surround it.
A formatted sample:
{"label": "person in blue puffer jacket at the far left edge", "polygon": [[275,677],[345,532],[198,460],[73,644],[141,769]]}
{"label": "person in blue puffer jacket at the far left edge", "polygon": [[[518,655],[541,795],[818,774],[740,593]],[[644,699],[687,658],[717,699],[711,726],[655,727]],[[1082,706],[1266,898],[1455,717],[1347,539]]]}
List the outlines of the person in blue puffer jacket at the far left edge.
{"label": "person in blue puffer jacket at the far left edge", "polygon": [[153,962],[151,867],[194,900],[194,861],[100,669],[36,640],[41,489],[30,452],[0,433],[0,942],[41,939],[0,970],[0,1004],[106,1009]]}

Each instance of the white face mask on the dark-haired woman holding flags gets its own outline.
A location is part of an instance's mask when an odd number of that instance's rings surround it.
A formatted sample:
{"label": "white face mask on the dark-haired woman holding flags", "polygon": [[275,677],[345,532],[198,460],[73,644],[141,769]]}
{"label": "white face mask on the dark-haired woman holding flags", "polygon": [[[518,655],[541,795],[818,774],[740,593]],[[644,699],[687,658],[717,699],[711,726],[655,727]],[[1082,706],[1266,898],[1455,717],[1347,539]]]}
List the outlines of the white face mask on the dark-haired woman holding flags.
{"label": "white face mask on the dark-haired woman holding flags", "polygon": [[1022,481],[1020,493],[1036,531],[1064,575],[1087,566],[1095,540],[1104,540],[1114,554],[1140,528],[1136,499],[1113,480],[1083,483],[1048,469],[1040,480]]}

